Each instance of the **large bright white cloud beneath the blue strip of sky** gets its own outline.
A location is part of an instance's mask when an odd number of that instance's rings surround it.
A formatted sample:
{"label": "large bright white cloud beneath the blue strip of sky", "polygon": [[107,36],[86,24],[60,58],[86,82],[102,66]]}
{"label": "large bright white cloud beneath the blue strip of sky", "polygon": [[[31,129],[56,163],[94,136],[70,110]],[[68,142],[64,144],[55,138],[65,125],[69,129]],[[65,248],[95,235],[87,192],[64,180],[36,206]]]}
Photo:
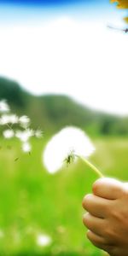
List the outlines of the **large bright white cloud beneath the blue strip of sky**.
{"label": "large bright white cloud beneath the blue strip of sky", "polygon": [[128,113],[127,38],[99,20],[66,16],[0,26],[0,74],[33,93],[65,93],[92,108]]}

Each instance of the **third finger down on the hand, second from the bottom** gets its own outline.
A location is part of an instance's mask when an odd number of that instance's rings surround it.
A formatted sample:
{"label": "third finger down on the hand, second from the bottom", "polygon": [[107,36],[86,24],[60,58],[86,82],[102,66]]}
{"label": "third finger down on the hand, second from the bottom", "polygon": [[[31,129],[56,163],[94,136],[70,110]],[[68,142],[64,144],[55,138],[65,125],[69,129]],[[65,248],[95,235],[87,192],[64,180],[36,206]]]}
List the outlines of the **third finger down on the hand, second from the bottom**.
{"label": "third finger down on the hand, second from the bottom", "polygon": [[96,218],[90,213],[84,214],[84,225],[98,236],[103,236],[105,230],[105,220],[103,218]]}

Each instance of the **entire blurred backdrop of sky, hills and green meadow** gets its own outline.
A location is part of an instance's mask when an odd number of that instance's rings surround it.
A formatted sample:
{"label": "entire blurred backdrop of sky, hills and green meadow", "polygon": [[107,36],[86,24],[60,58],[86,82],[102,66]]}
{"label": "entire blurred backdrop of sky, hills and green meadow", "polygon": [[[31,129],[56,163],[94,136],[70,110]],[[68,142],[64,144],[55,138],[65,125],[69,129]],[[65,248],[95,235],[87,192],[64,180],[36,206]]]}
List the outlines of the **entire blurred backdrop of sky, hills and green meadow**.
{"label": "entire blurred backdrop of sky, hills and green meadow", "polygon": [[0,1],[0,100],[44,131],[24,154],[0,127],[0,255],[102,255],[82,224],[97,177],[80,161],[50,175],[43,152],[74,125],[104,175],[128,180],[127,34],[109,28],[125,14],[108,0]]}

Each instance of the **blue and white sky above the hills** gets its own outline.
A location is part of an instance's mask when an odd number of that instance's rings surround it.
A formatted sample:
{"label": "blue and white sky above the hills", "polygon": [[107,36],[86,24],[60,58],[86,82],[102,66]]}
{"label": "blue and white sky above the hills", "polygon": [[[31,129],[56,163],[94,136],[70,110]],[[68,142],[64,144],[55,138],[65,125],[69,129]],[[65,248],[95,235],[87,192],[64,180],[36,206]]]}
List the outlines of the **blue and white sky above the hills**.
{"label": "blue and white sky above the hills", "polygon": [[124,15],[108,0],[0,1],[0,76],[128,114],[128,35],[108,28]]}

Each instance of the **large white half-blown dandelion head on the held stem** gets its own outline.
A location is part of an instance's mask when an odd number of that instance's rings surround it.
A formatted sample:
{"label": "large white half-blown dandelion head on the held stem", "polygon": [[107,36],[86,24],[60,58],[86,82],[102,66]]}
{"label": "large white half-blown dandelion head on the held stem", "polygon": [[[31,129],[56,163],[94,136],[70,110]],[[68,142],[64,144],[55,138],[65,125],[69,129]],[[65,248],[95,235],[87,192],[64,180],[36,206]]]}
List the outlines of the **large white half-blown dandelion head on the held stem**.
{"label": "large white half-blown dandelion head on the held stem", "polygon": [[49,173],[57,172],[71,152],[89,157],[95,148],[84,131],[67,126],[49,140],[44,150],[44,166]]}

